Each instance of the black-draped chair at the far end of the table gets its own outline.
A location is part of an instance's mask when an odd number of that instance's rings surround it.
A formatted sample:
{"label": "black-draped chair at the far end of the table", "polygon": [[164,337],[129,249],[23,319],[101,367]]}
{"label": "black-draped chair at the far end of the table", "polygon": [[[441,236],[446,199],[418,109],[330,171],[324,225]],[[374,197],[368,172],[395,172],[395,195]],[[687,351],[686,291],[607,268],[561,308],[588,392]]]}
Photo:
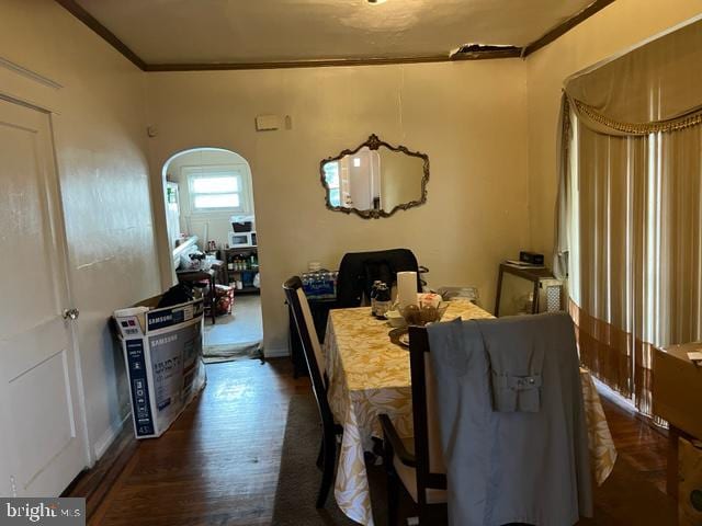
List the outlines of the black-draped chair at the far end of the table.
{"label": "black-draped chair at the far end of the table", "polygon": [[398,272],[416,272],[417,291],[421,291],[420,267],[409,249],[344,254],[337,277],[337,307],[360,307],[363,295],[371,296],[374,281],[380,279],[389,287],[397,281]]}

